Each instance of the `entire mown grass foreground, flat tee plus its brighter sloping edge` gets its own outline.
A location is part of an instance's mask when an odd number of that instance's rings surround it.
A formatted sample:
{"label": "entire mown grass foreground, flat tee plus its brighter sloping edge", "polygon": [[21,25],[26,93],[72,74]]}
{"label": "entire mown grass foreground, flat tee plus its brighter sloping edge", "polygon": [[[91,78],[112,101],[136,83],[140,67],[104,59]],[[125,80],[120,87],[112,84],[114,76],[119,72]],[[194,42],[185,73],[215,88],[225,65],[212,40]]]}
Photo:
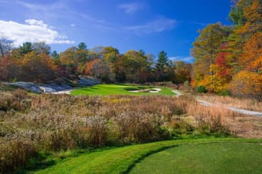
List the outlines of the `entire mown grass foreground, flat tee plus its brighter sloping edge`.
{"label": "entire mown grass foreground, flat tee plus its brighter sloping edge", "polygon": [[85,153],[36,173],[174,173],[194,169],[197,173],[260,173],[261,143],[261,139],[239,138],[160,141]]}

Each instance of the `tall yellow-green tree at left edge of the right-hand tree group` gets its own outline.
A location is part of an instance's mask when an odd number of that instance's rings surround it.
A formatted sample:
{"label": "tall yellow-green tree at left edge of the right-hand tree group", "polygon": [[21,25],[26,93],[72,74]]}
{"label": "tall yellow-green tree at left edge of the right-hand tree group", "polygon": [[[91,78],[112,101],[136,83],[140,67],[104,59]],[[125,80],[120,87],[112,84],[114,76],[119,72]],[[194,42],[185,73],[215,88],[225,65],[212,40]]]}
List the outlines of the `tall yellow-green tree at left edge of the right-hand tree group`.
{"label": "tall yellow-green tree at left edge of the right-hand tree group", "polygon": [[[223,39],[229,36],[229,29],[221,23],[209,24],[199,31],[199,37],[193,43],[192,55],[194,62],[194,86],[199,86],[203,80],[212,80],[213,65],[219,54]],[[212,83],[211,81],[209,83]]]}

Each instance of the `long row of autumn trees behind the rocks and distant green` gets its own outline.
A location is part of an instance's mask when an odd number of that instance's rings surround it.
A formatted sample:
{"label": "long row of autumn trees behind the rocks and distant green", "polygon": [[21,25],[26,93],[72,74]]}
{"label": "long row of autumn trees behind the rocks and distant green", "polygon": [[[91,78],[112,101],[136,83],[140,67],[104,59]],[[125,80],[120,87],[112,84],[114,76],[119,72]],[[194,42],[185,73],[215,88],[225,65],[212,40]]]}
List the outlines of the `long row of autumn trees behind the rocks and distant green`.
{"label": "long row of autumn trees behind the rocks and distant green", "polygon": [[58,77],[76,79],[96,77],[103,82],[190,81],[192,65],[172,62],[161,51],[157,60],[143,50],[120,54],[117,48],[98,46],[88,49],[85,43],[57,53],[45,43],[23,43],[11,48],[11,41],[0,40],[0,80],[48,82]]}

